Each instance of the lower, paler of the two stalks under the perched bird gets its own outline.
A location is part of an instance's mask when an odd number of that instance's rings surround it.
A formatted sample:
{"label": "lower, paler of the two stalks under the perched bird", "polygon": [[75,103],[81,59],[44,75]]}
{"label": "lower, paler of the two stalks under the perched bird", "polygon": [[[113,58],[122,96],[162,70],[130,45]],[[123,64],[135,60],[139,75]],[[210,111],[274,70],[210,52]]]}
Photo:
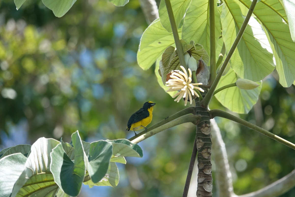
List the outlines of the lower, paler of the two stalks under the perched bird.
{"label": "lower, paler of the two stalks under the perched bird", "polygon": [[131,140],[132,143],[139,143],[157,133],[160,133],[161,131],[164,131],[168,128],[171,128],[171,127],[174,127],[174,126],[177,126],[177,125],[180,125],[180,124],[183,124],[183,123],[194,123],[194,124],[197,124],[200,120],[201,116],[200,115],[194,115],[194,114],[187,114],[187,115],[183,115],[179,118],[176,118],[175,120],[173,121],[170,121],[162,126],[159,126],[157,128],[154,128],[153,130],[147,132],[147,133],[144,133],[143,135],[141,136],[138,136],[137,138],[135,138],[134,140]]}

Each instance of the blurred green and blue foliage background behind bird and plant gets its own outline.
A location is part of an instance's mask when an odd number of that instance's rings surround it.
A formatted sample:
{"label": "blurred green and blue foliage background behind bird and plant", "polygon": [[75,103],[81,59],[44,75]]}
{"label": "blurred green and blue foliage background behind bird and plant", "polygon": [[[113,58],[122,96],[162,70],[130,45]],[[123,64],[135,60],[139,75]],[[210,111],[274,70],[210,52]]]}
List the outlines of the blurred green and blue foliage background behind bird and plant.
{"label": "blurred green and blue foliage background behind bird and plant", "polygon": [[[174,102],[159,87],[155,66],[143,71],[137,65],[147,26],[139,1],[124,7],[77,1],[61,18],[42,1],[27,0],[19,10],[11,0],[0,1],[0,150],[43,136],[70,142],[76,130],[89,142],[128,139],[134,133],[125,131],[127,121],[144,102],[157,103],[151,125],[183,109],[183,102]],[[216,99],[210,108],[227,110]],[[282,88],[271,74],[258,103],[239,116],[294,143],[294,85]],[[294,169],[294,150],[216,120],[236,194],[260,189]],[[195,127],[183,124],[140,142],[144,157],[118,164],[116,188],[83,185],[80,196],[182,196],[194,137]],[[214,178],[218,166],[212,163]],[[191,189],[195,196],[196,185]],[[295,189],[282,196],[295,196]]]}

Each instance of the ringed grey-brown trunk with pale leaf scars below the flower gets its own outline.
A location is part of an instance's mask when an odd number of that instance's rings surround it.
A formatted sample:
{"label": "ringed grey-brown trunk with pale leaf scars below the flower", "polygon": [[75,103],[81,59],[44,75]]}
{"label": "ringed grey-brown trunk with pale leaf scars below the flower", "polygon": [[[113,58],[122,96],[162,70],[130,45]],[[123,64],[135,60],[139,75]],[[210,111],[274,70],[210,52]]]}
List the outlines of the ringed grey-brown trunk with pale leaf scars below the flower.
{"label": "ringed grey-brown trunk with pale leaf scars below the flower", "polygon": [[197,101],[195,107],[195,114],[201,115],[201,119],[199,123],[196,125],[196,146],[198,149],[199,169],[197,196],[212,196],[212,141],[209,111],[208,108],[201,107],[200,102]]}

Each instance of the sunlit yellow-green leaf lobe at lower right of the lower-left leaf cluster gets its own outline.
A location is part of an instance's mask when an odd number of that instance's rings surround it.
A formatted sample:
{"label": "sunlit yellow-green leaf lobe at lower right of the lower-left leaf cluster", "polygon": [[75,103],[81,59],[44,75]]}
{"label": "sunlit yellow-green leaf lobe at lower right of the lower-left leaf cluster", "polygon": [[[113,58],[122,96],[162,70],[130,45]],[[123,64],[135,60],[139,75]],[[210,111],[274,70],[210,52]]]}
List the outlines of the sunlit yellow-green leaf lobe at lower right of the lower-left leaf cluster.
{"label": "sunlit yellow-green leaf lobe at lower right of the lower-left leaf cluster", "polygon": [[116,187],[119,183],[119,170],[117,165],[114,162],[111,162],[106,172],[106,175],[98,182],[93,183],[92,180],[85,182],[85,185],[89,185],[89,188],[93,186],[112,186]]}

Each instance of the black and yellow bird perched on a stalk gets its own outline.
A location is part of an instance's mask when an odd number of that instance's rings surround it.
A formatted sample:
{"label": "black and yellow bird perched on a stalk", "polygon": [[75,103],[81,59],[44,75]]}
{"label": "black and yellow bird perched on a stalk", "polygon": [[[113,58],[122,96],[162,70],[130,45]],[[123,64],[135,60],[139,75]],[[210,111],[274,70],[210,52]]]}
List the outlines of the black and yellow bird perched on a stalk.
{"label": "black and yellow bird perched on a stalk", "polygon": [[[153,118],[153,108],[155,103],[148,101],[143,104],[142,108],[140,108],[137,112],[131,115],[129,118],[129,121],[127,123],[127,129],[126,131],[137,131],[142,128],[145,128],[145,131],[147,131],[148,124],[152,121]],[[135,133],[135,136],[137,134]]]}

